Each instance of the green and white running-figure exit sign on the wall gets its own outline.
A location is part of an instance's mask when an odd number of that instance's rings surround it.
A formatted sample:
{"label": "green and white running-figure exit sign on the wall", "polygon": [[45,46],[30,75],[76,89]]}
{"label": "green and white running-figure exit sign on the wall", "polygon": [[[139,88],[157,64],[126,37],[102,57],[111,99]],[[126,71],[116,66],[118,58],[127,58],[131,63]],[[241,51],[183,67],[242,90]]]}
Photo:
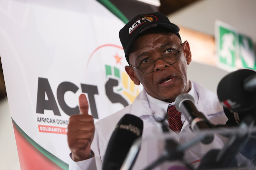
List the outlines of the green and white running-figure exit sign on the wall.
{"label": "green and white running-figure exit sign on the wall", "polygon": [[256,70],[256,55],[250,37],[240,34],[226,23],[216,21],[215,44],[219,67],[228,71],[241,68]]}

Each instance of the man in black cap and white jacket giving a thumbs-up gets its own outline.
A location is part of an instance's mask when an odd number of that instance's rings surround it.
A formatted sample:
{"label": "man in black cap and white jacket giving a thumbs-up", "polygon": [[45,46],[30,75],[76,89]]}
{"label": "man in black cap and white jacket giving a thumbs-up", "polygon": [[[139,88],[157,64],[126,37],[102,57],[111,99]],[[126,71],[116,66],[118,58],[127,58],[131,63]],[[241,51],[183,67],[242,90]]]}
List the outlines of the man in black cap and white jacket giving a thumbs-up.
{"label": "man in black cap and white jacket giving a thumbs-up", "polygon": [[[143,120],[143,138],[161,134],[153,115],[165,115],[169,106],[174,105],[175,98],[182,93],[193,96],[198,110],[212,123],[226,123],[227,117],[216,95],[188,80],[187,67],[191,63],[191,53],[188,41],[182,43],[179,30],[161,13],[137,15],[120,30],[120,41],[129,64],[125,70],[134,84],[141,83],[144,89],[133,104],[99,120],[95,125],[93,117],[88,115],[88,101],[85,95],[80,95],[80,115],[71,116],[68,125],[68,144],[73,159],[70,169],[96,169],[96,166],[101,169],[115,125],[127,113]],[[169,125],[173,131],[180,131],[177,140],[183,143],[190,140],[186,134],[191,130],[184,115],[179,117],[182,123],[180,127],[172,129],[175,123],[169,122]],[[211,145],[221,148],[223,142],[217,139]],[[161,155],[158,153],[159,147],[150,142],[143,143],[134,169],[142,169],[152,163]],[[191,148],[185,158],[193,165],[200,162],[205,152],[207,149],[203,147],[200,150]]]}

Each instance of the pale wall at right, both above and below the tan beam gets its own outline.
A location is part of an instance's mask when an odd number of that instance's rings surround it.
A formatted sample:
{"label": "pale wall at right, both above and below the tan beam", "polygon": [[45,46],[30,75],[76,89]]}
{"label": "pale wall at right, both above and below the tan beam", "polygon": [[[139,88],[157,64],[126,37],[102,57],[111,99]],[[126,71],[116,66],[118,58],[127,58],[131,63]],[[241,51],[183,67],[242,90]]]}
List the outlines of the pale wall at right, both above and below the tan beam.
{"label": "pale wall at right, both above and below the tan beam", "polygon": [[[215,20],[221,20],[256,42],[255,0],[201,0],[168,16],[171,22],[214,36]],[[181,35],[182,37],[182,35]],[[184,41],[185,39],[183,39]],[[193,54],[192,54],[193,58]],[[218,82],[228,72],[211,66],[193,63],[189,79],[198,81],[216,93]]]}

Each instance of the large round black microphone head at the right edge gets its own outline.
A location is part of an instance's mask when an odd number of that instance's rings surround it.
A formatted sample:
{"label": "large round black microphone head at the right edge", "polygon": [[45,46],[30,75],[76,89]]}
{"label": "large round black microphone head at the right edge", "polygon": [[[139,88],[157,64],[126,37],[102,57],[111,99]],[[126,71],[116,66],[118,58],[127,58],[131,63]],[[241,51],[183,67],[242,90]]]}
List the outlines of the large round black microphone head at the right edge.
{"label": "large round black microphone head at the right edge", "polygon": [[256,74],[254,70],[241,69],[226,75],[218,84],[219,101],[228,109],[246,111],[256,107],[256,92],[246,90],[246,78]]}

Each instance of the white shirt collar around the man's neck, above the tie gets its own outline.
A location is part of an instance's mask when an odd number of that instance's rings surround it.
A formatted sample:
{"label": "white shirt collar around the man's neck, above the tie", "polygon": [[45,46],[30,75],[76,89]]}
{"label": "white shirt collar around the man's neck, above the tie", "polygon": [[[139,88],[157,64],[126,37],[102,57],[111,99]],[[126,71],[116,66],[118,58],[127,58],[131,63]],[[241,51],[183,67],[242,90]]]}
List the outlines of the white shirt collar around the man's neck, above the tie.
{"label": "white shirt collar around the man's neck, above the tie", "polygon": [[[193,96],[193,98],[195,99],[195,103],[197,104],[198,103],[198,95],[195,91],[193,83],[191,81],[189,81],[189,85],[190,85],[190,90],[189,90],[188,94]],[[167,112],[168,106],[175,104],[175,101],[172,103],[169,103],[169,102],[155,99],[155,98],[151,97],[150,95],[148,95],[147,92],[146,92],[146,97],[148,100],[148,105],[149,105],[151,111],[153,112],[153,114],[156,114],[159,116],[164,116]]]}

